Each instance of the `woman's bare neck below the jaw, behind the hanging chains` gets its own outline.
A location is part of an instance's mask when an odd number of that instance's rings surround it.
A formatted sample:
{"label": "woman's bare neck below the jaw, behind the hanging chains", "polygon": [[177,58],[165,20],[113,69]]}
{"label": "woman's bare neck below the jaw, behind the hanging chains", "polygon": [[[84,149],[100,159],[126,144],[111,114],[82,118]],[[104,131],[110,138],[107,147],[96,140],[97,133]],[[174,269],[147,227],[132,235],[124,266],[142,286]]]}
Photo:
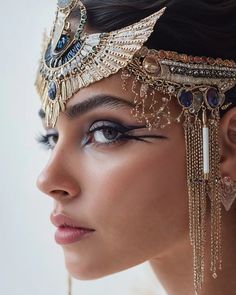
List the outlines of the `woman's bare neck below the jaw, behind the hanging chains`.
{"label": "woman's bare neck below the jaw, behind the hanging chains", "polygon": [[[209,222],[205,249],[204,284],[198,295],[234,295],[236,290],[236,214],[222,209],[223,265],[217,279],[210,273]],[[178,245],[149,261],[168,295],[195,295],[193,287],[193,253],[187,236]]]}

